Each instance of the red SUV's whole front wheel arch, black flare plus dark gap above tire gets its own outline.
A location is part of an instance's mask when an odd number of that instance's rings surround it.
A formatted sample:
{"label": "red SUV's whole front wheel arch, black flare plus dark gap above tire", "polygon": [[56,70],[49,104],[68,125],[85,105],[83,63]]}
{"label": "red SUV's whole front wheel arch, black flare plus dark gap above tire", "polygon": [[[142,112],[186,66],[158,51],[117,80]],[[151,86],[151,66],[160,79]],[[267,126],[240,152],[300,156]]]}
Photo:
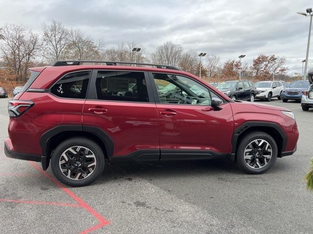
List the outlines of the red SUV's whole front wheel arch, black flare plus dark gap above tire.
{"label": "red SUV's whole front wheel arch, black flare plus dark gap above tire", "polygon": [[284,151],[287,144],[287,136],[282,128],[276,123],[270,122],[246,122],[239,126],[233,133],[232,137],[232,151],[229,155],[229,159],[232,161],[235,160],[238,145],[243,137],[246,134],[249,134],[254,131],[262,131],[274,138],[278,154],[277,157],[281,157],[282,152]]}

